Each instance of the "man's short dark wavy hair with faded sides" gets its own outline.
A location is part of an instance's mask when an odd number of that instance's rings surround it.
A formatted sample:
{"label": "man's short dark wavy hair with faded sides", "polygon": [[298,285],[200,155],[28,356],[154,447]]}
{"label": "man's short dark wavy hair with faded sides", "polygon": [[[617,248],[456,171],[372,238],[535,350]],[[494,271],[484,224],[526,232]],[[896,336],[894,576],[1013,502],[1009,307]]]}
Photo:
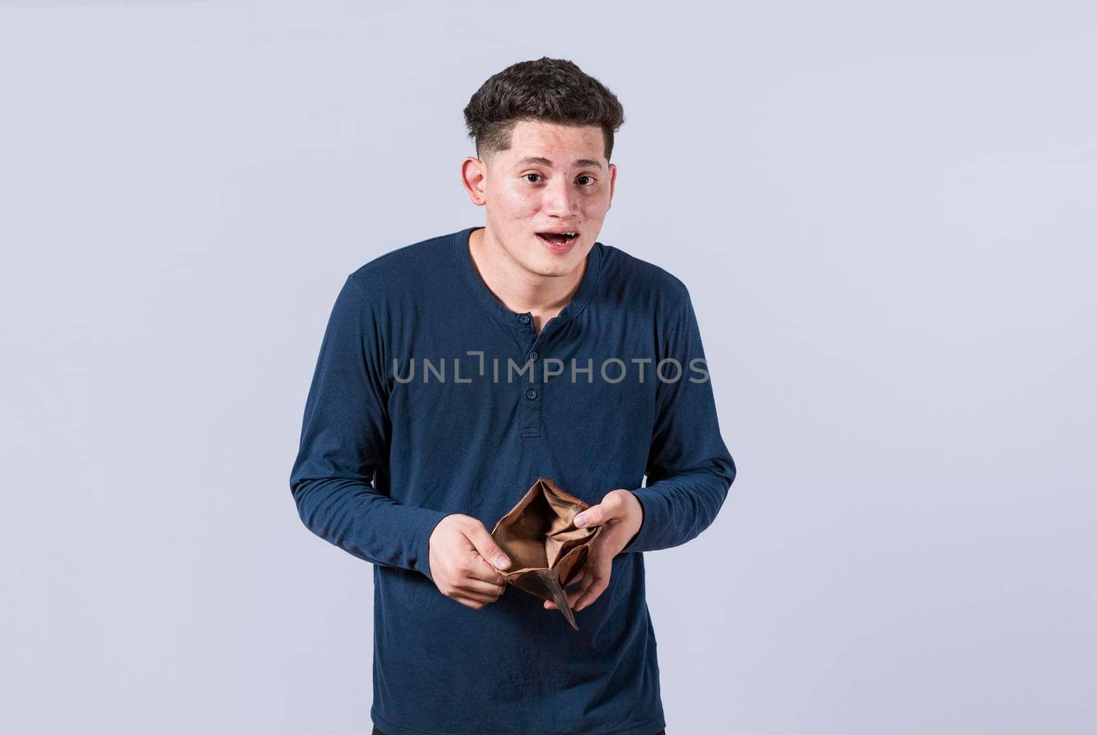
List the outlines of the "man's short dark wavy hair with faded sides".
{"label": "man's short dark wavy hair with faded sides", "polygon": [[535,119],[601,127],[608,161],[613,133],[624,123],[624,108],[617,95],[578,66],[547,56],[512,64],[493,74],[465,106],[465,125],[477,158],[508,150],[514,125]]}

